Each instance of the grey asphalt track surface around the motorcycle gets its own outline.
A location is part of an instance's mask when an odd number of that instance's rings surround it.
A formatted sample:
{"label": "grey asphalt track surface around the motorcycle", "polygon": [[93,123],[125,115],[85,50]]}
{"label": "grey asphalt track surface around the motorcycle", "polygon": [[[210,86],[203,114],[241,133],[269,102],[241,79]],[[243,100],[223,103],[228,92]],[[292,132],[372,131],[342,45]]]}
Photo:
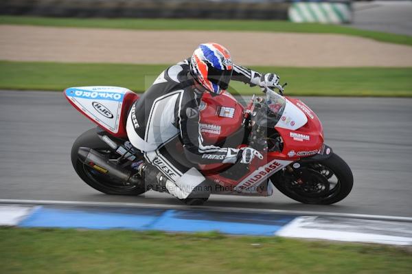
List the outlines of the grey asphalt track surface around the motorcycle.
{"label": "grey asphalt track surface around the motorcycle", "polygon": [[[301,98],[317,113],[325,143],[352,168],[354,189],[335,205],[214,195],[205,206],[412,216],[412,99]],[[108,196],[83,183],[73,141],[93,123],[60,92],[0,91],[0,199],[181,205],[157,192]]]}

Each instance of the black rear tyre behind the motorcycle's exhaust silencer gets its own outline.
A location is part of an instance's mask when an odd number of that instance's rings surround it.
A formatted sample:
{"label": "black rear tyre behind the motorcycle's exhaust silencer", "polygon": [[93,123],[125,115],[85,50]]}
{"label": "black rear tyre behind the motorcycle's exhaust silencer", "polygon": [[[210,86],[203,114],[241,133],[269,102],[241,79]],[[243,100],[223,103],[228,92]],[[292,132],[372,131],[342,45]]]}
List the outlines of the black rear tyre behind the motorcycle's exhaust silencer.
{"label": "black rear tyre behind the motorcycle's exhaust silencer", "polygon": [[93,148],[93,150],[97,150],[107,157],[118,157],[118,155],[115,155],[115,152],[113,152],[111,148],[98,137],[97,132],[98,128],[92,128],[84,132],[76,139],[76,141],[74,141],[71,148],[71,163],[78,176],[95,190],[105,194],[139,195],[146,192],[145,187],[137,187],[137,185],[123,186],[113,184],[113,179],[109,176],[93,170],[93,168],[84,165],[84,163],[78,159],[78,149],[82,146]]}

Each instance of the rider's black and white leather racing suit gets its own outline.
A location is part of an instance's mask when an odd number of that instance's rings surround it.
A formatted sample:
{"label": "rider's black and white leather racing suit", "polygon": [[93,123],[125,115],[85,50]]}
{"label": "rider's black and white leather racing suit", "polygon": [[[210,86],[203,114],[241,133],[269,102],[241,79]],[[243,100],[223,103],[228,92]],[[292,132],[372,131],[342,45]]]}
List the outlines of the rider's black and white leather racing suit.
{"label": "rider's black and white leather racing suit", "polygon": [[[256,71],[233,65],[231,80],[254,86],[259,84],[260,78]],[[235,163],[238,160],[236,148],[203,144],[199,128],[202,95],[203,92],[194,87],[190,59],[187,59],[165,69],[133,104],[128,115],[126,130],[131,144],[144,152],[146,161],[177,186],[176,192],[170,190],[170,185],[167,188],[178,198],[187,198],[191,187],[205,180],[193,168],[196,163]],[[193,163],[192,167],[176,160],[178,157],[168,149],[167,144],[176,138],[183,144],[185,158]],[[189,186],[185,185],[187,183]]]}

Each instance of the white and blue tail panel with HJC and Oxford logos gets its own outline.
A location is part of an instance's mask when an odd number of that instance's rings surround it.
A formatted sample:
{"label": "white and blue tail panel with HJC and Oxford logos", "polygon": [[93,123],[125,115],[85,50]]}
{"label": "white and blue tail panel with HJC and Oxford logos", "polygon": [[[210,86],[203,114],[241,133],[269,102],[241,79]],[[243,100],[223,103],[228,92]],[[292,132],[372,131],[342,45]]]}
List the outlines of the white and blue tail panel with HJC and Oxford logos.
{"label": "white and blue tail panel with HJC and Oxford logos", "polygon": [[127,91],[123,87],[71,87],[65,95],[84,115],[117,133]]}

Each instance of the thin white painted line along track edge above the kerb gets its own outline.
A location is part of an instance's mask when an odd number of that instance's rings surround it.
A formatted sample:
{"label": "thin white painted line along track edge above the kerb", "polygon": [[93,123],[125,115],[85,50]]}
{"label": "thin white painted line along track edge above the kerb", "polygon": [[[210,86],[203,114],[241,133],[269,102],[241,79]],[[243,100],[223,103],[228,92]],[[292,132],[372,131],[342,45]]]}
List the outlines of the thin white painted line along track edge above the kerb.
{"label": "thin white painted line along track edge above the kerb", "polygon": [[368,214],[350,214],[339,212],[312,212],[312,211],[297,211],[297,210],[281,210],[281,209],[259,209],[259,208],[243,208],[243,207],[208,207],[208,206],[188,206],[188,205],[162,205],[155,203],[113,203],[113,202],[84,202],[84,201],[49,201],[49,200],[18,200],[18,199],[0,199],[0,203],[7,204],[25,204],[25,205],[93,205],[103,207],[156,207],[161,209],[200,209],[210,210],[215,212],[253,212],[253,213],[277,213],[290,214],[299,216],[333,216],[343,218],[358,218],[368,220],[392,220],[399,222],[412,222],[411,217],[402,216],[382,216]]}

